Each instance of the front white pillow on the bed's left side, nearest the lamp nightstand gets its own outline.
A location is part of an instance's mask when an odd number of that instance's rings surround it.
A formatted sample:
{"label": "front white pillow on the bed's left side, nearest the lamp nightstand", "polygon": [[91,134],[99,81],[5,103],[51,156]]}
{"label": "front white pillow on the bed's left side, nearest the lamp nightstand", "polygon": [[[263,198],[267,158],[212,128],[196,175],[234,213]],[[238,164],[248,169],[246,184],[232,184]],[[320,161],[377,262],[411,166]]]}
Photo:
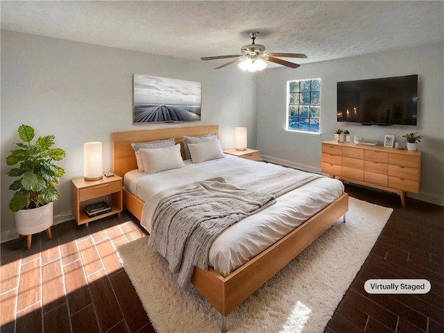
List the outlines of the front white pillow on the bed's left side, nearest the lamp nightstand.
{"label": "front white pillow on the bed's left side, nearest the lamp nightstand", "polygon": [[139,148],[139,153],[144,161],[146,173],[185,167],[180,155],[180,144],[167,148]]}

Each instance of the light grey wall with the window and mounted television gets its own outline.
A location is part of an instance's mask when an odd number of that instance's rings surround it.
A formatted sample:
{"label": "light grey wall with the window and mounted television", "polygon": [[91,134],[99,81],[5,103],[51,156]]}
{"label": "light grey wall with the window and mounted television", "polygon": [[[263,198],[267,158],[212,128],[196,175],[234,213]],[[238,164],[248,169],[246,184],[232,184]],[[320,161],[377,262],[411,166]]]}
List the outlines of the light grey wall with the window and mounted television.
{"label": "light grey wall with the window and mounted television", "polygon": [[[384,135],[419,132],[422,151],[421,189],[415,196],[444,205],[444,46],[422,46],[369,56],[280,67],[257,76],[257,148],[263,157],[293,167],[321,171],[321,142],[334,139],[336,128],[351,136],[384,141]],[[336,121],[336,82],[418,74],[418,126],[361,126]],[[284,130],[287,80],[321,78],[321,136]],[[410,194],[409,194],[410,196]],[[411,195],[413,196],[413,195]]]}

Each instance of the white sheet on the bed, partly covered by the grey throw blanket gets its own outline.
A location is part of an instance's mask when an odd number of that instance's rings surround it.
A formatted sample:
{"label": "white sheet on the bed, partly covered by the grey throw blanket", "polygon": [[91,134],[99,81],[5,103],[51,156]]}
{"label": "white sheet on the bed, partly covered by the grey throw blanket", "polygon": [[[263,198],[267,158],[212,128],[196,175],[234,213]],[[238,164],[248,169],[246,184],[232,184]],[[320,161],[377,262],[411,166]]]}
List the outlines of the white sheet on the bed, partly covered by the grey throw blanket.
{"label": "white sheet on the bed, partly covered by the grey throw blanket", "polygon": [[[126,173],[123,180],[126,189],[148,203],[141,221],[146,230],[151,230],[151,216],[155,210],[152,198],[158,191],[216,176],[222,176],[228,183],[242,187],[245,182],[283,168],[231,155],[219,160],[186,164],[187,167],[160,173],[139,173],[137,170]],[[277,203],[271,207],[225,230],[212,244],[210,265],[221,275],[229,275],[322,210],[341,196],[343,191],[342,182],[323,177],[278,197]]]}

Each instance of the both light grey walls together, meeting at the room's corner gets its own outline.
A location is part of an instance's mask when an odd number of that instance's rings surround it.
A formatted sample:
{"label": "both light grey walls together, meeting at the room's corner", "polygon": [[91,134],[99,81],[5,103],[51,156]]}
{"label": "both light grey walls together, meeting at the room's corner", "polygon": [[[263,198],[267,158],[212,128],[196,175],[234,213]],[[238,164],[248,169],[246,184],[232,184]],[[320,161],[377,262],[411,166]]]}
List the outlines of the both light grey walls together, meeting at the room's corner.
{"label": "both light grey walls together, meeting at the room's corner", "polygon": [[[155,50],[153,50],[155,52]],[[26,123],[37,135],[55,135],[67,151],[58,187],[56,216],[71,210],[71,178],[83,176],[83,143],[103,142],[103,170],[111,169],[111,133],[124,130],[219,124],[223,148],[234,146],[234,127],[248,127],[248,146],[270,160],[320,171],[321,141],[348,128],[380,142],[384,135],[418,131],[425,135],[419,198],[444,205],[443,44],[302,65],[266,69],[257,76],[236,66],[215,71],[214,63],[181,60],[12,31],[1,31],[1,241],[17,237],[8,209],[13,192],[4,160],[14,148],[17,128]],[[202,82],[202,121],[132,123],[132,75],[148,74]],[[336,81],[419,75],[418,126],[364,127],[336,122]],[[287,133],[287,80],[322,78],[321,137]],[[257,84],[255,84],[257,78]],[[257,109],[257,110],[256,110]],[[257,128],[256,128],[257,121]]]}

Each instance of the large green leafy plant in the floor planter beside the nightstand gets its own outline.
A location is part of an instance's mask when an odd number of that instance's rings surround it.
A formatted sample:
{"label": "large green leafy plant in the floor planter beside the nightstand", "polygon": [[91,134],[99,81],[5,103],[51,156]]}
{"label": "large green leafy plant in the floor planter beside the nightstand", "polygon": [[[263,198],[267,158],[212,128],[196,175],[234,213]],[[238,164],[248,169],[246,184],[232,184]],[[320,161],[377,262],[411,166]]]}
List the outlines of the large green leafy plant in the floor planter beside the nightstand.
{"label": "large green leafy plant in the floor planter beside the nightstand", "polygon": [[19,177],[9,187],[16,191],[9,204],[12,212],[37,208],[58,200],[60,194],[54,185],[65,174],[63,168],[53,163],[65,158],[62,148],[51,148],[55,139],[53,135],[39,137],[33,142],[35,133],[31,126],[20,125],[17,132],[24,143],[16,142],[19,149],[12,150],[6,157],[6,164],[18,164],[6,172],[8,176]]}

